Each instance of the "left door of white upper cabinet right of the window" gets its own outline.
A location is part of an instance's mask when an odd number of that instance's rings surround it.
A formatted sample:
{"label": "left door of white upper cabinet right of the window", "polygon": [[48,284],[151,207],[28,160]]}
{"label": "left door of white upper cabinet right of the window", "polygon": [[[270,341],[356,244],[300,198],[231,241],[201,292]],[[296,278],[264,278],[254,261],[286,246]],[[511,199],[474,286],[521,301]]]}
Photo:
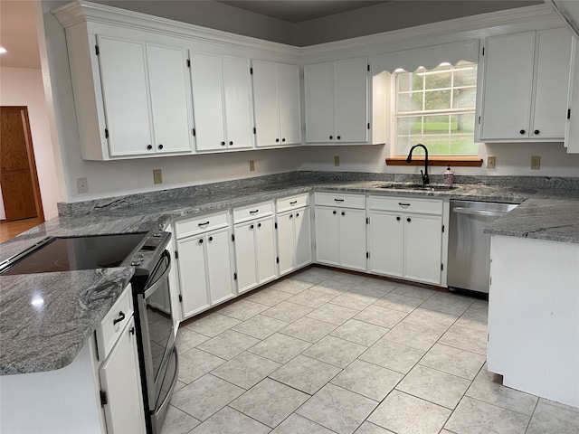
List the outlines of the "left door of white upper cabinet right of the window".
{"label": "left door of white upper cabinet right of the window", "polygon": [[482,141],[528,137],[534,61],[535,32],[493,36],[487,40],[484,82],[481,83],[484,92],[480,120]]}

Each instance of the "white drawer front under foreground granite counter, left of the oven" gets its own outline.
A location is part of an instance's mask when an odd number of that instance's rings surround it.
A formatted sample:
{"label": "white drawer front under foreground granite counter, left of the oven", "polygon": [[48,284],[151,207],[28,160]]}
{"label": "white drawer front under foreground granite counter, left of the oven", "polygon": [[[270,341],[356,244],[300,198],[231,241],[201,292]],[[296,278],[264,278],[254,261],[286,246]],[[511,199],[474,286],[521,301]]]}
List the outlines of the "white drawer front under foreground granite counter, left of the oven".
{"label": "white drawer front under foreground granite counter, left of the oven", "polygon": [[133,297],[132,288],[129,284],[97,327],[97,345],[99,346],[100,360],[107,358],[132,316]]}

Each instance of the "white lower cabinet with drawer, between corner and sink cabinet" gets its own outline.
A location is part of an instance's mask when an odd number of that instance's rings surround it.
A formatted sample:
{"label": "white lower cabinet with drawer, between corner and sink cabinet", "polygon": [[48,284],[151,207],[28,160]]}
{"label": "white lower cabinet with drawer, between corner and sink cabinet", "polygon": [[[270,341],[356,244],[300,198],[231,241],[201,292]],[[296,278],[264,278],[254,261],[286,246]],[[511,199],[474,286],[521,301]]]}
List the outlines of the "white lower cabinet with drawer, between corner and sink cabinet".
{"label": "white lower cabinet with drawer, between corner and sink cabinet", "polygon": [[316,193],[315,201],[316,260],[365,271],[365,196]]}

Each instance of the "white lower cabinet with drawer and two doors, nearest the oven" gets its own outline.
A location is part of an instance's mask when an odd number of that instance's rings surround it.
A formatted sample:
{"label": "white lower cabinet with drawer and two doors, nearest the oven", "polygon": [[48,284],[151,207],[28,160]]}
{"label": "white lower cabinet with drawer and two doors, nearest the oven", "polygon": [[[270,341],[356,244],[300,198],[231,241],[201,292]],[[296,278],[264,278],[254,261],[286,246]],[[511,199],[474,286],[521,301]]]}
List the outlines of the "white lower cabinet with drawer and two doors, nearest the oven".
{"label": "white lower cabinet with drawer and two doors, nearest the oven", "polygon": [[235,297],[227,212],[176,222],[183,318]]}

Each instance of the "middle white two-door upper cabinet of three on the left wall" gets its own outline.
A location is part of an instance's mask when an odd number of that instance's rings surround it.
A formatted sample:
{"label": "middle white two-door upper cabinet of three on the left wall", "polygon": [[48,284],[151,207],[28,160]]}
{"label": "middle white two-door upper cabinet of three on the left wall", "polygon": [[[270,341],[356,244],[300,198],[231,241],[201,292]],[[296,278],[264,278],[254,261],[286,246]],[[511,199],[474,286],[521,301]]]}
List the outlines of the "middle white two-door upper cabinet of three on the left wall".
{"label": "middle white two-door upper cabinet of three on the left wall", "polygon": [[249,59],[191,52],[197,151],[253,146]]}

